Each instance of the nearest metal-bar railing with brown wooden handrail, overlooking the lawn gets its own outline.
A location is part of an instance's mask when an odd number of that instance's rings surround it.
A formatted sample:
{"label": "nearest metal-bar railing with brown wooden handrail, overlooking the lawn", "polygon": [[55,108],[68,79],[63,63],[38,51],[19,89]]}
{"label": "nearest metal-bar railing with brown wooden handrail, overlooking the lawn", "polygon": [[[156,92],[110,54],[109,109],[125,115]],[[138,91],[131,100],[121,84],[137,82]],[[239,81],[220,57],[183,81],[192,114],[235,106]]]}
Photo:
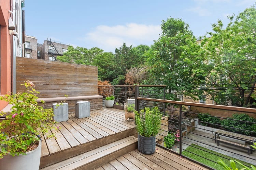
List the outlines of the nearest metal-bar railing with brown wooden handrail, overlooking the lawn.
{"label": "nearest metal-bar railing with brown wooden handrail, overlooking the lawn", "polygon": [[[246,166],[255,165],[256,150],[250,145],[256,142],[256,109],[162,100],[157,99],[158,95],[155,98],[145,97],[140,95],[142,87],[135,86],[136,110],[160,106],[162,121],[165,122],[161,123],[156,137],[159,139],[158,146],[209,169],[214,168],[202,163],[201,159],[217,163],[206,154],[215,155],[222,160],[229,160],[228,156],[231,156],[247,162]],[[145,101],[150,104],[141,105]],[[209,110],[211,115],[205,114]],[[238,114],[236,116],[231,112]],[[238,117],[242,117],[242,120],[237,120]]]}

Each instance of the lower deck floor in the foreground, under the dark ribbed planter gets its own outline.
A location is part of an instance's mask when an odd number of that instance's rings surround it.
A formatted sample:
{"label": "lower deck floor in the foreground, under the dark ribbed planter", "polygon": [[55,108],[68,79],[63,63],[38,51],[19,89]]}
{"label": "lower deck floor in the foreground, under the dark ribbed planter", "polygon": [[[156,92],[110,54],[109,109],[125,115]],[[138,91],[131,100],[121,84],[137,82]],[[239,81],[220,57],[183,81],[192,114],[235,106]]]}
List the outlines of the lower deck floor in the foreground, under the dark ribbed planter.
{"label": "lower deck floor in the foreground, under the dark ribbed planter", "polygon": [[157,169],[157,170],[206,170],[196,163],[193,163],[185,158],[182,158],[174,153],[171,153],[165,149],[156,147],[156,152],[152,155],[144,155],[137,149],[131,151],[123,156],[120,156],[109,163],[106,163],[96,170],[116,170],[116,169]]}

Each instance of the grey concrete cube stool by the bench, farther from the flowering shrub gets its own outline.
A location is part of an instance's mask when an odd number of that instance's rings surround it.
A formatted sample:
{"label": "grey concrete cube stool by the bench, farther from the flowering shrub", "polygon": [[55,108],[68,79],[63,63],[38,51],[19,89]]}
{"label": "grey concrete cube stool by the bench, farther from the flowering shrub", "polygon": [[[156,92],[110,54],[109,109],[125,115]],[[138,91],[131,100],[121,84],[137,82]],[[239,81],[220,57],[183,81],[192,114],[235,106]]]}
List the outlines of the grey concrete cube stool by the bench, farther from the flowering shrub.
{"label": "grey concrete cube stool by the bench, farther from the flowering shrub", "polygon": [[75,102],[75,117],[83,118],[90,116],[90,102],[81,101]]}

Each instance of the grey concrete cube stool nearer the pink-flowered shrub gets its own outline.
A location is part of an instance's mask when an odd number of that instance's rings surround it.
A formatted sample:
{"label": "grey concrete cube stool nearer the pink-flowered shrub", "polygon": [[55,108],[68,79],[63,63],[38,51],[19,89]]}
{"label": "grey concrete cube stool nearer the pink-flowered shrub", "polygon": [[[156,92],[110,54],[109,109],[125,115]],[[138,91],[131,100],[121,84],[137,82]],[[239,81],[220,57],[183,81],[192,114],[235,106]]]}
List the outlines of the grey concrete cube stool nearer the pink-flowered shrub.
{"label": "grey concrete cube stool nearer the pink-flowered shrub", "polygon": [[69,104],[68,103],[53,103],[53,119],[57,122],[67,121],[69,120]]}

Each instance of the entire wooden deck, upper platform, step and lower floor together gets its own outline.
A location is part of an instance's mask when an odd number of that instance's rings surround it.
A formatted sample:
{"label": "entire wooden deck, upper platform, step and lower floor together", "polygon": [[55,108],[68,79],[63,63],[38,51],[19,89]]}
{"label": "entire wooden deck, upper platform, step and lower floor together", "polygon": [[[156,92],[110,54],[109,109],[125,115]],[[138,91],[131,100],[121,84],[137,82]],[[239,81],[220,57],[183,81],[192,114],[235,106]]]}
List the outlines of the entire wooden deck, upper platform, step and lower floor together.
{"label": "entire wooden deck, upper platform, step and lower floor together", "polygon": [[58,125],[57,138],[42,142],[40,169],[206,169],[160,147],[141,154],[134,121],[123,110],[98,109],[81,119],[69,114]]}

